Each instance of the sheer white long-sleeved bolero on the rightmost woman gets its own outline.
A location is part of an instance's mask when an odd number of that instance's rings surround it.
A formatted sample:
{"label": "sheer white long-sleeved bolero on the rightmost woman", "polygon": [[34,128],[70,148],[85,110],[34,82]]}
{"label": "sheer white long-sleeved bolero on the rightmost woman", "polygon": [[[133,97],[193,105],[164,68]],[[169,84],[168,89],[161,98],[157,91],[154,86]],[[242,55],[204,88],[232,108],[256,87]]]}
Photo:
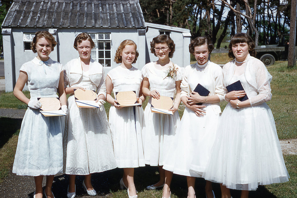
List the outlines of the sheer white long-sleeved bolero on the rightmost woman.
{"label": "sheer white long-sleeved bolero on the rightmost woman", "polygon": [[[224,75],[224,91],[228,93],[226,86],[230,84],[230,80],[234,75],[235,70],[235,59],[225,64],[223,67]],[[271,88],[270,82],[272,76],[267,71],[266,66],[261,60],[248,55],[246,68],[244,71],[244,77],[247,80],[249,87],[244,87],[251,106],[259,105],[271,100]],[[224,94],[224,98],[225,98]]]}

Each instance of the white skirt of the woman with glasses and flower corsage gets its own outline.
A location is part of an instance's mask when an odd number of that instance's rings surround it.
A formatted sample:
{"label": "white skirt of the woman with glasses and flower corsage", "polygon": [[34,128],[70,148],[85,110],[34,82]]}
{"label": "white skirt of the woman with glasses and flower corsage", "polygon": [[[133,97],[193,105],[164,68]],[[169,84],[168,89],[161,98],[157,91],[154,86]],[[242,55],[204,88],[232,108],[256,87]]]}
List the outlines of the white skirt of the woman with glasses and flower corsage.
{"label": "white skirt of the woman with glasses and flower corsage", "polygon": [[170,145],[180,122],[178,111],[173,115],[151,112],[148,103],[144,110],[146,128],[144,130],[144,159],[151,166],[162,166],[170,150]]}

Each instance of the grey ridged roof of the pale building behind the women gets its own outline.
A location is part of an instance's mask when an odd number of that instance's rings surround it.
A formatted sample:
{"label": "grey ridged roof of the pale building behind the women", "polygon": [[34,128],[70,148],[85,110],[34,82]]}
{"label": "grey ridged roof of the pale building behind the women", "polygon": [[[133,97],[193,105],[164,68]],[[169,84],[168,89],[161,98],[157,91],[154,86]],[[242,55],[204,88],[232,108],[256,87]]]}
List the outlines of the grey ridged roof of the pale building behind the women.
{"label": "grey ridged roof of the pale building behind the women", "polygon": [[144,28],[138,0],[14,0],[7,27]]}

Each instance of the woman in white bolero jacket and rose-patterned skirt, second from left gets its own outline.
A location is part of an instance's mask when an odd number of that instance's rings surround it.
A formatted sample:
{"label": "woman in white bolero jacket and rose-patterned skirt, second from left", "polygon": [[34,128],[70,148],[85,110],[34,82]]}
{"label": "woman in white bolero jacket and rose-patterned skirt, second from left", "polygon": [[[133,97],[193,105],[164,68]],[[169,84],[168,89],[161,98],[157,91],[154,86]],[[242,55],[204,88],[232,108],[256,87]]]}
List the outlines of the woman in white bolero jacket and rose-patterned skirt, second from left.
{"label": "woman in white bolero jacket and rose-patterned skirt, second from left", "polygon": [[[100,63],[91,58],[95,46],[91,36],[80,33],[74,40],[79,57],[65,65],[64,85],[68,98],[68,116],[64,136],[64,172],[69,175],[67,197],[75,194],[75,176],[85,175],[82,183],[87,194],[97,193],[91,184],[91,173],[116,168],[113,143],[106,112],[105,75]],[[74,89],[95,90],[100,108],[78,108]],[[104,149],[102,149],[104,148]]]}

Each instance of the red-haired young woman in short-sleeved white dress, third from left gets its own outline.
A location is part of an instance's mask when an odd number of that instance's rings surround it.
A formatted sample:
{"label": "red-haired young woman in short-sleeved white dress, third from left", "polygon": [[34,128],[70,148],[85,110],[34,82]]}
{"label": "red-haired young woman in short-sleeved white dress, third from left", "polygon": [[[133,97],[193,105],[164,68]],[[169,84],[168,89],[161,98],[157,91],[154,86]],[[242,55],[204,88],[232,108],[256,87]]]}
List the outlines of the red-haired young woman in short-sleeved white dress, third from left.
{"label": "red-haired young woman in short-sleeved white dress, third from left", "polygon": [[109,125],[113,140],[117,166],[124,168],[121,188],[127,188],[129,198],[137,197],[134,185],[134,168],[145,166],[143,157],[142,130],[144,125],[141,106],[120,107],[111,92],[135,91],[138,103],[142,104],[143,76],[132,66],[138,57],[137,46],[132,40],[124,40],[116,50],[114,61],[121,63],[106,76],[106,100],[112,106],[109,110]]}

